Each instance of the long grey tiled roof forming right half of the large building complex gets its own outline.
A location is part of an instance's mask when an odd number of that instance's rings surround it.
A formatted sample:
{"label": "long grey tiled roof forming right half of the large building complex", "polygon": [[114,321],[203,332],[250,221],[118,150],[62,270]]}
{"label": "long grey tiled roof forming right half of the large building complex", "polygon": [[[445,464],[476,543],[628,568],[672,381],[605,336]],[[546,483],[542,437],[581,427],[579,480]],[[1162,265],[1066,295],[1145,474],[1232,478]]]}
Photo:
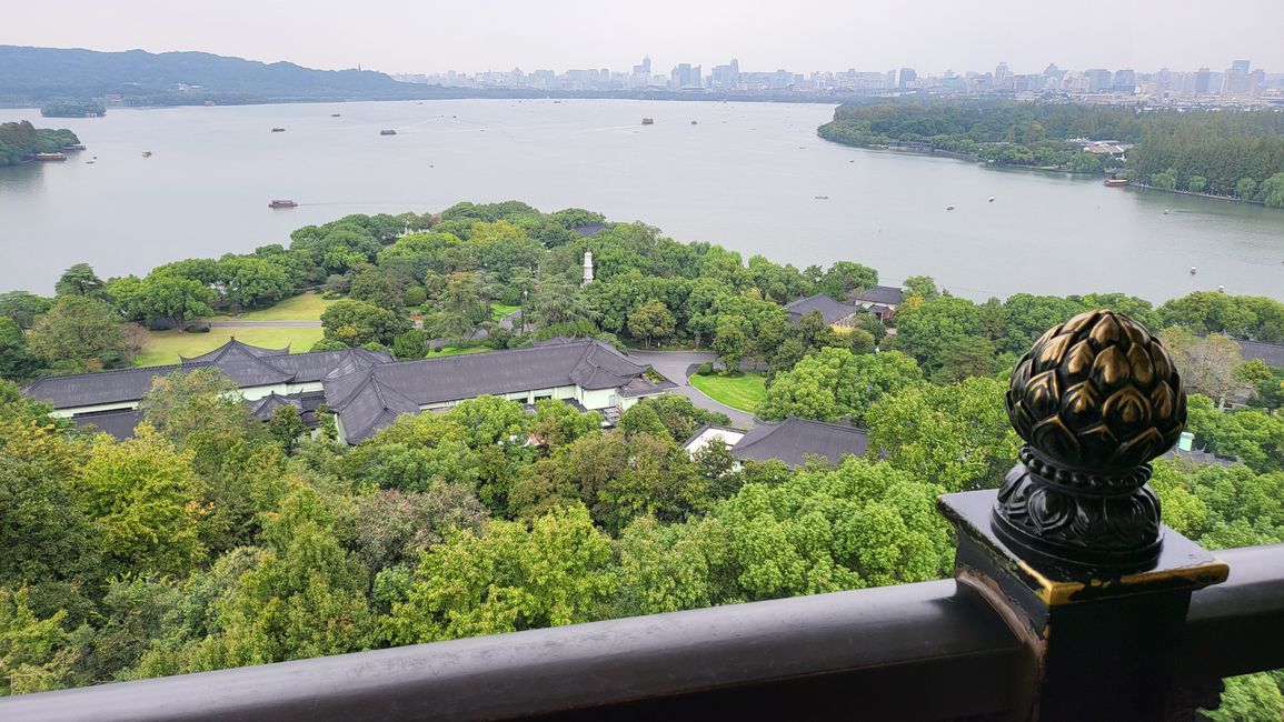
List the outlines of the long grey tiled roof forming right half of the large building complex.
{"label": "long grey tiled roof forming right half of the large building complex", "polygon": [[[374,365],[329,377],[322,383],[326,399],[343,422],[344,435],[357,444],[398,414],[419,412],[428,404],[570,385],[620,389],[648,368],[605,344],[578,340]],[[646,383],[656,391],[663,389]],[[634,389],[634,395],[642,392]]]}

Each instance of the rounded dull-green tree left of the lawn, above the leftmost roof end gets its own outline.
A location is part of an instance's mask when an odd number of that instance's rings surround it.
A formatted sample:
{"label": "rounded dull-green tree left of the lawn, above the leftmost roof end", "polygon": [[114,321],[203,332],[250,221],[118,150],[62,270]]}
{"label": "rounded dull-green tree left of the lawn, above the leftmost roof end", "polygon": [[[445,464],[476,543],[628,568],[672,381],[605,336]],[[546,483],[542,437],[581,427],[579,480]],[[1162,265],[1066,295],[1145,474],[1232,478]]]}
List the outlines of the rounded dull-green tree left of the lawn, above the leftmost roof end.
{"label": "rounded dull-green tree left of the lawn, above the leftmost roof end", "polygon": [[27,348],[50,359],[59,371],[78,373],[123,368],[132,362],[132,344],[121,317],[107,301],[62,296],[36,319]]}

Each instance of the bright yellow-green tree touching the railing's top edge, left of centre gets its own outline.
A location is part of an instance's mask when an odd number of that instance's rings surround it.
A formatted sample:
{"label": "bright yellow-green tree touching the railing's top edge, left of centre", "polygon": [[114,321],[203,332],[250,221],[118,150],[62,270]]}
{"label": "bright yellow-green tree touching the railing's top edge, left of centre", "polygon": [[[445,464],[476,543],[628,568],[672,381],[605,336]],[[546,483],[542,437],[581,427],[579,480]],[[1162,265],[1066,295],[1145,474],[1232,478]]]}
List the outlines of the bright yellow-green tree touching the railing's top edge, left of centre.
{"label": "bright yellow-green tree touching the railing's top edge, left of centre", "polygon": [[530,525],[449,532],[384,619],[392,644],[417,644],[588,622],[612,589],[611,542],[582,505]]}

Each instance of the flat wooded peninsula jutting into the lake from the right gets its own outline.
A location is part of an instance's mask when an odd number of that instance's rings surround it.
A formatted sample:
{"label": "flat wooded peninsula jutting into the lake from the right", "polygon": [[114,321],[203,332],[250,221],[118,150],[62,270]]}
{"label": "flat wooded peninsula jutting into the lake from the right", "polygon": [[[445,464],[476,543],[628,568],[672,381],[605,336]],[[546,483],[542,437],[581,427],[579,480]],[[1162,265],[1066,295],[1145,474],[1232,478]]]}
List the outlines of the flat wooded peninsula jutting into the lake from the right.
{"label": "flat wooded peninsula jutting into the lake from the right", "polygon": [[846,145],[944,151],[1000,165],[1109,169],[1158,190],[1284,208],[1284,113],[1278,110],[858,101],[835,110],[818,133]]}

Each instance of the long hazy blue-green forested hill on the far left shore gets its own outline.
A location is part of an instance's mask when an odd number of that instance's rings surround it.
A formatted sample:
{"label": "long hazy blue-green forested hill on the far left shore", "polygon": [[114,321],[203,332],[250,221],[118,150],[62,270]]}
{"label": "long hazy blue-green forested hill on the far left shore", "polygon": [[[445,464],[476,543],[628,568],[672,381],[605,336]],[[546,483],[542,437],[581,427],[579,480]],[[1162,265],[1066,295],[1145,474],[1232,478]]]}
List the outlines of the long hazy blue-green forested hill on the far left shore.
{"label": "long hazy blue-green forested hill on the far left shore", "polygon": [[0,105],[119,95],[132,104],[386,100],[434,97],[438,86],[371,71],[313,71],[208,53],[99,53],[0,45]]}

